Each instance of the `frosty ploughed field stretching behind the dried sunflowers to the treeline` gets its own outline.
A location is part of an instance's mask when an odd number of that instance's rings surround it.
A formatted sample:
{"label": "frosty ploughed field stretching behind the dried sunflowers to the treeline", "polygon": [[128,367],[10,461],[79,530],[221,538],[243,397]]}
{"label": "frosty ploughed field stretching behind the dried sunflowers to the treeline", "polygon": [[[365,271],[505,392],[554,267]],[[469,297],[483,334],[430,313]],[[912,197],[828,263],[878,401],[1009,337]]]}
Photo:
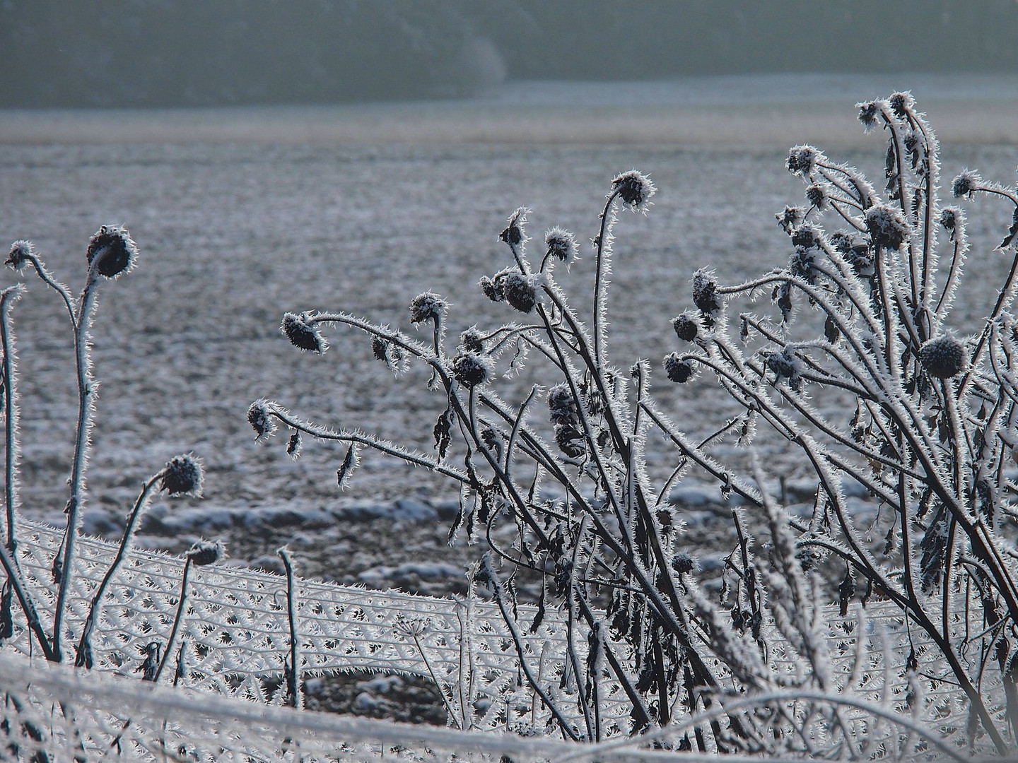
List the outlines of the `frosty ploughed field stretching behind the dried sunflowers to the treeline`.
{"label": "frosty ploughed field stretching behind the dried sunflowers to the treeline", "polygon": [[[1018,87],[1011,80],[989,82],[985,92],[923,82],[944,117],[946,181],[970,167],[1013,182],[1018,130],[1012,121],[1009,133],[1002,114],[1014,111]],[[699,82],[687,93],[700,93],[698,101],[676,97],[673,87],[664,105],[656,105],[661,96],[634,90],[607,91],[616,94],[609,98],[602,86],[507,85],[501,96],[444,111],[429,104],[0,112],[0,242],[32,239],[72,287],[101,224],[126,225],[142,250],[136,271],[104,285],[94,330],[102,388],[89,529],[115,532],[142,481],[173,455],[193,451],[208,467],[206,498],[157,506],[150,543],[180,548],[196,535],[226,533],[240,538],[235,556],[257,561],[292,540],[316,574],[455,589],[461,554],[444,544],[451,485],[365,454],[341,494],[334,480],[341,451],[307,441],[292,462],[285,437],[253,442],[245,411],[261,397],[322,423],[425,449],[443,408],[441,396],[425,390],[421,369],[394,380],[363,335],[330,332],[325,356],[302,355],[279,332],[282,313],[346,309],[413,333],[407,304],[431,289],[454,305],[453,337],[474,321],[514,319],[476,286],[509,262],[497,240],[505,218],[529,207],[531,235],[561,225],[588,240],[611,178],[637,168],[659,193],[649,216],[626,214],[617,229],[610,350],[622,367],[637,358],[658,367],[675,349],[669,321],[690,304],[693,270],[713,266],[723,282],[734,282],[787,260],[790,244],[774,214],[802,194],[784,169],[787,146],[833,144],[833,157],[882,185],[883,140],[862,135],[852,104],[910,83],[869,81],[846,96],[847,85],[827,81],[798,100],[781,97],[788,80],[755,87],[739,80],[732,93],[742,92],[741,100],[718,98],[722,84]],[[562,106],[566,93],[573,100]],[[626,103],[626,93],[636,102]],[[974,106],[960,108],[959,99]],[[938,109],[927,108],[940,127]],[[616,129],[624,124],[628,130]],[[834,130],[831,143],[825,125]],[[347,128],[350,139],[339,139]],[[961,332],[988,309],[1009,265],[993,247],[1010,210],[988,199],[968,209],[973,254],[955,315]],[[577,305],[590,300],[591,272],[586,258],[559,274]],[[8,271],[3,278],[18,277]],[[15,309],[21,495],[26,514],[58,521],[75,409],[69,331],[55,296],[38,280],[29,284]],[[730,410],[705,377],[675,386],[658,375],[662,407],[694,430],[706,431]],[[525,374],[507,382],[503,396],[519,400],[529,384]],[[761,447],[775,477],[777,470],[801,476],[794,460],[782,460],[780,444]],[[667,474],[669,458],[662,451],[652,471]],[[692,503],[714,488],[694,481],[682,490]],[[441,582],[426,585],[432,579]]]}

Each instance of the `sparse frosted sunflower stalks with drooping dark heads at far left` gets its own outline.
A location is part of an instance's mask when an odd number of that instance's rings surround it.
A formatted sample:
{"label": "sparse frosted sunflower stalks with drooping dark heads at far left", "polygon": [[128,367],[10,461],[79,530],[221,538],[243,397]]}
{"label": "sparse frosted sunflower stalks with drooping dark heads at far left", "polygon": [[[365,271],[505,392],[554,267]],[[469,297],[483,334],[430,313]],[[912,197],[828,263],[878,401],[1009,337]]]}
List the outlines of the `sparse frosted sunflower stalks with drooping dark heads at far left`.
{"label": "sparse frosted sunflower stalks with drooping dark heads at far left", "polygon": [[[59,283],[47,270],[30,241],[15,241],[7,256],[6,265],[15,271],[30,269],[60,297],[66,308],[70,322],[74,348],[74,373],[77,382],[77,421],[74,449],[71,459],[70,476],[67,480],[69,496],[64,513],[67,524],[63,542],[53,557],[51,572],[56,588],[55,601],[51,602],[51,592],[34,590],[30,579],[22,572],[19,563],[17,535],[17,484],[19,480],[18,460],[18,395],[17,355],[14,347],[14,333],[11,310],[15,300],[25,290],[23,284],[16,284],[0,292],[0,399],[4,419],[4,542],[0,546],[0,566],[5,580],[0,594],[0,642],[11,638],[14,633],[14,599],[25,619],[32,633],[46,659],[61,662],[64,659],[64,639],[72,635],[66,622],[71,607],[73,580],[75,577],[76,541],[81,532],[82,512],[86,506],[86,471],[89,466],[91,430],[96,409],[98,382],[92,372],[90,331],[95,317],[96,299],[99,287],[104,281],[119,278],[134,268],[137,261],[137,246],[127,230],[119,226],[102,226],[89,240],[86,250],[87,275],[81,293],[76,298],[70,290]],[[74,663],[92,667],[92,635],[102,608],[103,596],[133,540],[138,522],[149,507],[153,492],[164,491],[168,495],[200,495],[202,492],[202,464],[192,455],[178,456],[170,460],[159,472],[150,477],[128,514],[120,547],[107,571],[102,583],[88,607],[88,615],[76,634],[78,643]],[[185,568],[186,571],[186,568]],[[47,629],[42,620],[42,611],[52,605],[54,612],[52,627]]]}

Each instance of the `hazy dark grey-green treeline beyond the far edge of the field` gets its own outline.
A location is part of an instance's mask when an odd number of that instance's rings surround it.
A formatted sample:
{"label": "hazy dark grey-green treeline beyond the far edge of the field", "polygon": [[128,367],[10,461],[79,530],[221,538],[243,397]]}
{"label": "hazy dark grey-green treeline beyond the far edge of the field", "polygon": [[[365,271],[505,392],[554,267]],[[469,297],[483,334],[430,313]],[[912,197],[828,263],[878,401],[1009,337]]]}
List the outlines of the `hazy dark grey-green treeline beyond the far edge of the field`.
{"label": "hazy dark grey-green treeline beyond the far edge of the field", "polygon": [[0,107],[343,104],[506,80],[1018,71],[1016,0],[0,0]]}

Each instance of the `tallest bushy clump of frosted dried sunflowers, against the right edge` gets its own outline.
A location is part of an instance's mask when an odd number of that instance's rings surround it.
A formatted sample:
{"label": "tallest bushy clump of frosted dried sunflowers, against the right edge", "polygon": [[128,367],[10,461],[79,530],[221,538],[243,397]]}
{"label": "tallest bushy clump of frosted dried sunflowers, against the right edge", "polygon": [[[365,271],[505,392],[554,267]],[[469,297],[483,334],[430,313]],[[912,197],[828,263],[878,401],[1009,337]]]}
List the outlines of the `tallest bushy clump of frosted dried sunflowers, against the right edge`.
{"label": "tallest bushy clump of frosted dried sunflowers, against the right edge", "polygon": [[[920,667],[913,647],[903,670],[956,686],[968,702],[969,737],[988,738],[1002,753],[1014,745],[1018,718],[1018,588],[1008,539],[1016,319],[1007,309],[1018,271],[1018,193],[969,171],[952,183],[956,197],[982,192],[1015,207],[998,247],[1011,250],[1011,269],[976,336],[959,338],[951,310],[968,250],[965,217],[940,199],[934,132],[909,94],[860,104],[859,118],[887,134],[883,195],[817,149],[792,149],[787,166],[806,183],[809,207],[777,216],[792,243],[788,267],[714,283],[710,305],[702,275],[694,275],[703,332],[678,359],[720,382],[743,425],[773,427],[800,450],[817,489],[811,516],[795,525],[798,554],[810,563],[826,556],[826,569],[844,571],[840,584],[826,581],[842,610],[857,592],[863,603],[898,607],[915,638],[932,644],[927,656],[937,655],[936,667]],[[738,297],[761,294],[777,315],[735,312]],[[830,396],[849,401],[850,413],[817,404]],[[691,441],[680,449],[760,505],[734,465]],[[849,509],[846,488],[859,485],[880,508],[875,520]],[[780,577],[768,592],[775,613],[797,610]],[[989,699],[992,686],[1003,687],[1003,710]]]}

